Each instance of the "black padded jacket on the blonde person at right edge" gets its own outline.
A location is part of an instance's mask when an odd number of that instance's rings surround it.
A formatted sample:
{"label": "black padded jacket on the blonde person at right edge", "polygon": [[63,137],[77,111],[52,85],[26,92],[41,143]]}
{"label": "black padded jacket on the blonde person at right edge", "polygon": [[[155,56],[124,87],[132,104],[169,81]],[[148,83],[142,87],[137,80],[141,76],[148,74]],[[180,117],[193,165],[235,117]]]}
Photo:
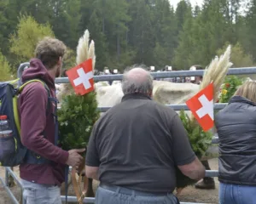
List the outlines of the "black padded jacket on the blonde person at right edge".
{"label": "black padded jacket on the blonde person at right edge", "polygon": [[215,116],[219,138],[218,180],[256,185],[256,105],[240,96]]}

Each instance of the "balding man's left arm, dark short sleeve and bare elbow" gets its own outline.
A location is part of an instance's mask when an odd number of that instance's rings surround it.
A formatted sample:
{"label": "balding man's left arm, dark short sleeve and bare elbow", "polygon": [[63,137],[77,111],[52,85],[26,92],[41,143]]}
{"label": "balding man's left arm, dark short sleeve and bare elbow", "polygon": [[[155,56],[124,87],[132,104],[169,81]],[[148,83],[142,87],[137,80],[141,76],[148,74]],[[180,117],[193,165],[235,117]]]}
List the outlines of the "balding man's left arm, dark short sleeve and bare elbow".
{"label": "balding man's left arm, dark short sleeve and bare elbow", "polygon": [[97,122],[92,129],[89,144],[87,146],[85,158],[85,173],[88,178],[99,180],[100,158],[98,150],[96,148],[96,127]]}

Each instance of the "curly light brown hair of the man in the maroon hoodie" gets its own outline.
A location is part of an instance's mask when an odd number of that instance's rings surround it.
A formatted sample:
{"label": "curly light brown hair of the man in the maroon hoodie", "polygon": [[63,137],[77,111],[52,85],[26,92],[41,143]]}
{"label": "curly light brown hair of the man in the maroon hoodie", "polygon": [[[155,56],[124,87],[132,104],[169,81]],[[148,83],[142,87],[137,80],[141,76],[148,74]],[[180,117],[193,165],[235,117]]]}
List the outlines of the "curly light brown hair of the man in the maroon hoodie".
{"label": "curly light brown hair of the man in the maroon hoodie", "polygon": [[63,59],[66,49],[66,45],[60,40],[52,37],[44,37],[43,40],[38,42],[35,55],[50,70],[54,68],[60,57]]}

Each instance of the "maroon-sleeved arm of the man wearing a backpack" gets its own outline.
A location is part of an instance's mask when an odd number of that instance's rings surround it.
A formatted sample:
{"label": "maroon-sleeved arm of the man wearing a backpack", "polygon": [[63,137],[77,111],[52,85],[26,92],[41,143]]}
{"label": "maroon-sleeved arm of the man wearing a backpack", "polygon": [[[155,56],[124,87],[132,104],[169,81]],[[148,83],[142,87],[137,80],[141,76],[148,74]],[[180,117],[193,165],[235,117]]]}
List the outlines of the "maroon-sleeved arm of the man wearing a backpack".
{"label": "maroon-sleeved arm of the man wearing a backpack", "polygon": [[44,139],[47,101],[48,94],[40,82],[27,85],[20,106],[21,142],[46,159],[66,164],[68,152]]}

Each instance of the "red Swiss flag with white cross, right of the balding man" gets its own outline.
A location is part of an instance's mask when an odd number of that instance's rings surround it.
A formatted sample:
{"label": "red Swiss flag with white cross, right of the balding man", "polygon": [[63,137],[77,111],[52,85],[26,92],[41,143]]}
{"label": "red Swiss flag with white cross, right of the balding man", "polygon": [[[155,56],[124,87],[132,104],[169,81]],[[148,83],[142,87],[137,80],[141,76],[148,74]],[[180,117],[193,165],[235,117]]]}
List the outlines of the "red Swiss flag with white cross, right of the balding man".
{"label": "red Swiss flag with white cross, right of the balding man", "polygon": [[205,132],[214,126],[212,82],[189,99],[186,104]]}

